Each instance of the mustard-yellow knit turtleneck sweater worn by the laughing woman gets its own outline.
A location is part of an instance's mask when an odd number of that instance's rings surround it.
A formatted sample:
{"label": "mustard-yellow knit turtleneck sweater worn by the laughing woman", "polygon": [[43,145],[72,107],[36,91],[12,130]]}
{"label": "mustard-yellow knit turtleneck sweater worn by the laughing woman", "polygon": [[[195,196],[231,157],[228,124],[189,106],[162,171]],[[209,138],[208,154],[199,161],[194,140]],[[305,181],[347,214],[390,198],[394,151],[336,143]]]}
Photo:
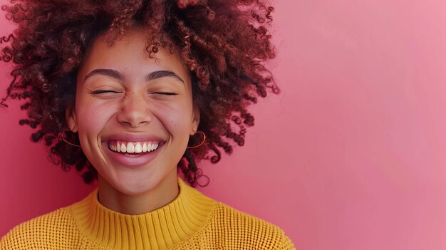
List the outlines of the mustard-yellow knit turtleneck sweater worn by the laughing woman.
{"label": "mustard-yellow knit turtleneck sweater worn by the laughing woman", "polygon": [[96,189],[81,202],[12,229],[0,249],[294,249],[279,227],[204,196],[179,180],[180,194],[140,215],[114,212]]}

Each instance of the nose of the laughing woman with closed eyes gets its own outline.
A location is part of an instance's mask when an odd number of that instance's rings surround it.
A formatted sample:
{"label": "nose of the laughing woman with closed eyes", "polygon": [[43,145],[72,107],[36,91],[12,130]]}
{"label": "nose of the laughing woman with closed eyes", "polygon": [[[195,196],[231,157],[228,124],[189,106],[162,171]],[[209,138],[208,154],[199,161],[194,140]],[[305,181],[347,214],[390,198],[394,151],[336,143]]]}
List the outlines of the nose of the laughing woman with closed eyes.
{"label": "nose of the laughing woman with closed eyes", "polygon": [[127,93],[121,100],[118,122],[134,128],[147,125],[152,120],[149,107],[145,95]]}

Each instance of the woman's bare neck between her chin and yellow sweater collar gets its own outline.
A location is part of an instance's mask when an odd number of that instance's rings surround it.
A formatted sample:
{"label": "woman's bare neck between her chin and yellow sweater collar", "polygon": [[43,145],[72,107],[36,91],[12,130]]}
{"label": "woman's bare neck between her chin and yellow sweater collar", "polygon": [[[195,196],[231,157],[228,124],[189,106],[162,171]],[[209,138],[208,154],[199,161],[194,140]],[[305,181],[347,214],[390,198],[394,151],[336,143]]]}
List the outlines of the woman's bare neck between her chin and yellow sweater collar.
{"label": "woman's bare neck between her chin and yellow sweater collar", "polygon": [[177,175],[163,179],[145,192],[126,194],[112,187],[105,179],[98,178],[100,204],[121,214],[145,214],[172,202],[178,196]]}

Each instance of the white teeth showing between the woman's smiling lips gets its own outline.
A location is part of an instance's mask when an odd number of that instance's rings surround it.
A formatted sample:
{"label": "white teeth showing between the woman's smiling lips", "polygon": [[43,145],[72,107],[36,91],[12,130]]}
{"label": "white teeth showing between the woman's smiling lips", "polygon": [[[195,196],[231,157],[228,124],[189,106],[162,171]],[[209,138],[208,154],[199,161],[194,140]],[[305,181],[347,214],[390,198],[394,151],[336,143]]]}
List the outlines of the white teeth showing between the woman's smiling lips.
{"label": "white teeth showing between the woman's smiling lips", "polygon": [[108,149],[130,157],[145,155],[155,151],[160,147],[161,142],[124,142],[119,140],[110,140]]}

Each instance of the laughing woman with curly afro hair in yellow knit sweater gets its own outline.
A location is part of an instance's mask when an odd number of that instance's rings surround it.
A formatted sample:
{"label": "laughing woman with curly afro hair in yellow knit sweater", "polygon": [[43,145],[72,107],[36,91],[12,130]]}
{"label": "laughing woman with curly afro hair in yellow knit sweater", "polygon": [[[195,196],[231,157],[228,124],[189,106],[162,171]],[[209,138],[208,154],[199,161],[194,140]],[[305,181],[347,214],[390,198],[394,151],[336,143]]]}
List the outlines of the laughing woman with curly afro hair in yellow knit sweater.
{"label": "laughing woman with curly afro hair in yellow knit sweater", "polygon": [[1,249],[294,249],[277,226],[177,177],[198,184],[196,161],[242,146],[247,106],[278,92],[264,68],[271,7],[66,0],[6,10],[19,25],[1,52],[15,67],[7,98],[24,100],[33,140],[98,189],[16,226]]}

